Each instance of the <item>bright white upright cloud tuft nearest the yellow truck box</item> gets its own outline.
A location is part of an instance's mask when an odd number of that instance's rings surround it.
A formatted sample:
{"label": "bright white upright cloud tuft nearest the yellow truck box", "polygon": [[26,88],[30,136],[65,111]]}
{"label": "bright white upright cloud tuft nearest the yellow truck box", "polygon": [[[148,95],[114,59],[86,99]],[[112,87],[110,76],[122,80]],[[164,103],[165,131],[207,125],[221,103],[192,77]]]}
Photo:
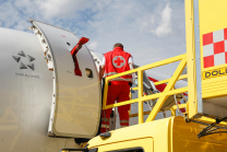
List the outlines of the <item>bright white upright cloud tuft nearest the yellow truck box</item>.
{"label": "bright white upright cloud tuft nearest the yellow truck box", "polygon": [[166,4],[166,8],[162,12],[162,21],[158,27],[155,31],[152,31],[157,36],[164,36],[172,33],[171,31],[171,12],[172,10],[169,8],[169,3]]}

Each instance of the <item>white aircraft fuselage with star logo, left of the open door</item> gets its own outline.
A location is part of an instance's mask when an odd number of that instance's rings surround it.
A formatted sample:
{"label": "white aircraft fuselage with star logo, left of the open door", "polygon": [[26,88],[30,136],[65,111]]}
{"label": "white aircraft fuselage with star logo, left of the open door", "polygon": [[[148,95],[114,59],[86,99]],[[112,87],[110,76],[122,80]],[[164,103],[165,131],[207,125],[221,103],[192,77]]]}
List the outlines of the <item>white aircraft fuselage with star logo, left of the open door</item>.
{"label": "white aircraft fuselage with star logo, left of the open door", "polygon": [[47,137],[52,71],[37,37],[0,28],[0,151],[57,152],[67,144],[76,147],[73,139]]}

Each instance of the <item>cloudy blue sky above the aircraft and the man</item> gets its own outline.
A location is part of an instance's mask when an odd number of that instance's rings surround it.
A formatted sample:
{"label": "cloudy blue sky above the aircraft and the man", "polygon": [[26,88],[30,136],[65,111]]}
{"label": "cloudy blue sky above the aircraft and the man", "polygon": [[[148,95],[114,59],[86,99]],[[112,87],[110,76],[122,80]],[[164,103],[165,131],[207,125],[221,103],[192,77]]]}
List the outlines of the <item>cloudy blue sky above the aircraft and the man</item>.
{"label": "cloudy blue sky above the aircraft and the man", "polygon": [[88,37],[101,54],[122,43],[140,66],[186,52],[183,0],[0,0],[1,27],[29,32],[27,17]]}

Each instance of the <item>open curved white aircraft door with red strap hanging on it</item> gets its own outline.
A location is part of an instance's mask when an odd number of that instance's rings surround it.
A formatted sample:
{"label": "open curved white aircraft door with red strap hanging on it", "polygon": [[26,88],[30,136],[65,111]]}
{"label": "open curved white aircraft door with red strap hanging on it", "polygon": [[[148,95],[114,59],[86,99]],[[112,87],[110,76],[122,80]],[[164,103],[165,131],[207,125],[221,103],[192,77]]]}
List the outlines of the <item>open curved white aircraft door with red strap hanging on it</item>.
{"label": "open curved white aircraft door with red strap hanging on it", "polygon": [[31,30],[44,48],[44,59],[53,79],[48,136],[93,138],[99,127],[101,98],[98,73],[91,52],[83,46],[76,54],[82,77],[75,75],[70,51],[79,42],[76,35],[35,20],[29,21],[33,24]]}

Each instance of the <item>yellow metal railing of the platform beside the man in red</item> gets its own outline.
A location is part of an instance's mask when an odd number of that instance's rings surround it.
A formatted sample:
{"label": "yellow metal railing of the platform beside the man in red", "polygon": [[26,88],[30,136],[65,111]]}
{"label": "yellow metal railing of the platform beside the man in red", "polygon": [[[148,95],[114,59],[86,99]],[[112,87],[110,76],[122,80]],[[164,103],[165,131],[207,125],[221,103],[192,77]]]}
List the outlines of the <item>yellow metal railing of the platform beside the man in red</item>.
{"label": "yellow metal railing of the platform beside the man in red", "polygon": [[[143,95],[143,71],[152,69],[152,68],[160,67],[160,66],[164,66],[164,65],[168,65],[168,63],[171,63],[171,62],[176,62],[176,61],[180,61],[180,63],[179,63],[177,70],[175,71],[175,73],[172,74],[172,77],[170,79],[163,80],[163,81],[159,81],[159,82],[155,83],[155,85],[159,85],[159,84],[163,84],[163,83],[168,83],[166,85],[165,90],[162,93],[152,94],[152,95]],[[138,114],[139,124],[144,122],[143,115],[147,115],[147,114],[150,114],[150,115],[148,115],[146,121],[154,120],[157,113],[160,112],[160,108],[162,108],[163,104],[165,103],[165,101],[170,95],[188,92],[188,86],[177,89],[177,90],[174,89],[174,86],[175,86],[175,84],[178,80],[182,80],[182,79],[188,78],[187,74],[180,75],[182,73],[183,69],[186,68],[186,65],[187,65],[187,55],[183,54],[183,55],[172,57],[172,58],[169,58],[169,59],[166,59],[166,60],[162,60],[162,61],[150,63],[150,65],[146,65],[146,66],[143,66],[143,67],[139,67],[138,69],[133,69],[133,70],[126,71],[126,72],[122,72],[122,73],[118,73],[118,74],[115,74],[115,75],[111,75],[111,77],[107,77],[106,82],[105,82],[105,90],[104,90],[103,109],[108,109],[108,108],[112,108],[112,107],[118,107],[118,106],[122,106],[122,105],[138,103],[139,104],[139,114]],[[121,103],[116,103],[116,104],[112,104],[112,105],[106,105],[109,81],[111,79],[116,79],[116,78],[127,75],[127,74],[132,74],[132,73],[135,73],[135,72],[138,72],[138,87],[134,87],[134,90],[138,90],[138,98],[133,98],[133,100],[121,102]],[[155,104],[154,108],[152,109],[152,112],[151,113],[143,112],[143,102],[155,100],[155,98],[158,98],[158,100],[157,100],[157,103]],[[186,107],[186,104],[181,105],[180,107],[181,108]],[[172,115],[175,115],[174,113],[175,113],[176,109],[177,109],[177,106],[171,107],[170,110],[172,112]]]}

